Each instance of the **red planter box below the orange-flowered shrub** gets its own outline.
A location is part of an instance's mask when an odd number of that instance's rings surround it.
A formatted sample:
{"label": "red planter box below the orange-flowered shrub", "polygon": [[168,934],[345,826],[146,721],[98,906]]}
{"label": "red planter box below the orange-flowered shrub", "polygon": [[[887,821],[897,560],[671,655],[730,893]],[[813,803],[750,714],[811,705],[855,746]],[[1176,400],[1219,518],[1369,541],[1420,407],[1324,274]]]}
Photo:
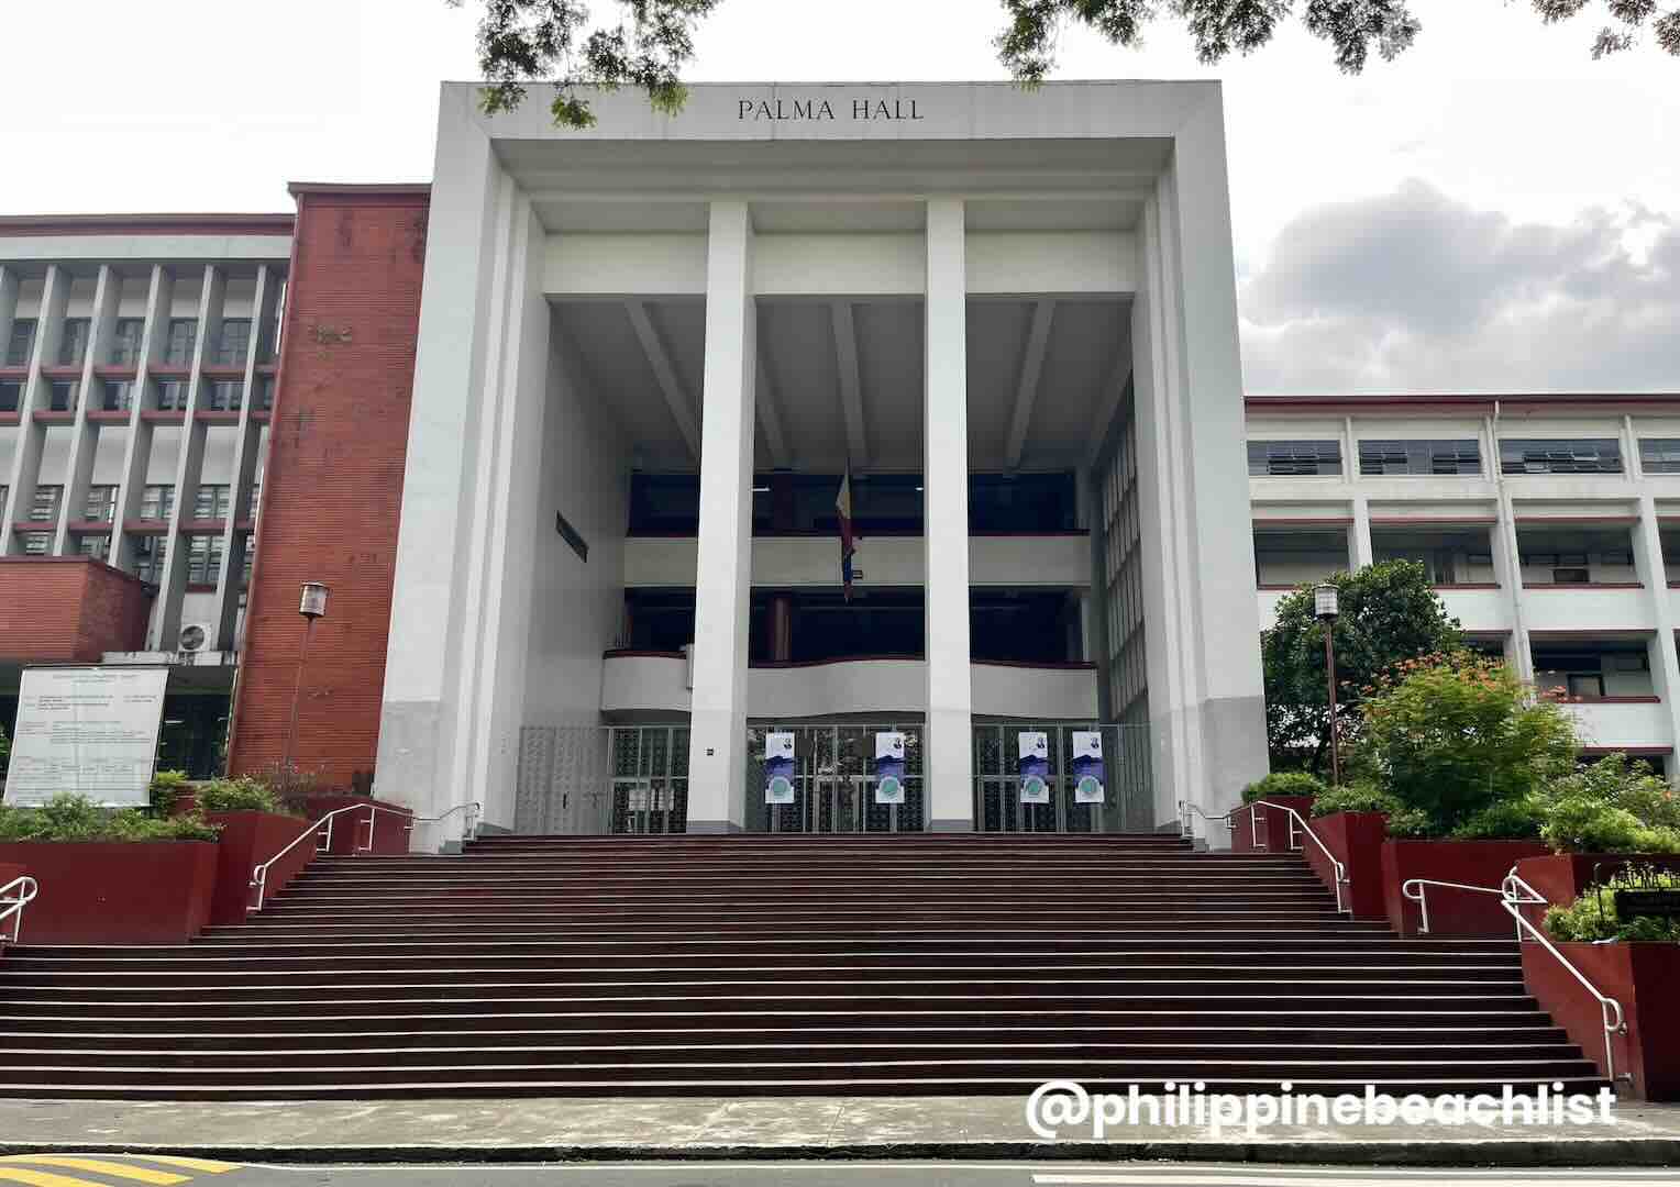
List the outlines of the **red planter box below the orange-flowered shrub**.
{"label": "red planter box below the orange-flowered shrub", "polygon": [[[1418,903],[1401,895],[1401,886],[1410,878],[1497,890],[1517,861],[1546,853],[1551,850],[1541,841],[1384,841],[1383,905],[1388,922],[1401,935],[1421,933]],[[1515,939],[1517,925],[1500,905],[1499,895],[1443,886],[1425,886],[1423,893],[1430,898],[1430,935]]]}

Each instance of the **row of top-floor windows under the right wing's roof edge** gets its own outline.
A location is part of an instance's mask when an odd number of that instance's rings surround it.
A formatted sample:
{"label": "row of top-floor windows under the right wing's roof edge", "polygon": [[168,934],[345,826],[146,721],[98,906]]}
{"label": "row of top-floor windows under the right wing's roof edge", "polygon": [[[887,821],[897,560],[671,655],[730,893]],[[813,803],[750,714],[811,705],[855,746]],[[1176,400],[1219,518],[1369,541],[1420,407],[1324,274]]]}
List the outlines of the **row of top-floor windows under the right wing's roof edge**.
{"label": "row of top-floor windows under the right wing's roof edge", "polygon": [[[1640,440],[1646,473],[1680,473],[1680,438]],[[1500,473],[1621,473],[1621,443],[1613,437],[1502,438]],[[1252,477],[1339,475],[1342,443],[1331,440],[1248,442]],[[1359,473],[1482,473],[1482,443],[1458,440],[1359,442]]]}

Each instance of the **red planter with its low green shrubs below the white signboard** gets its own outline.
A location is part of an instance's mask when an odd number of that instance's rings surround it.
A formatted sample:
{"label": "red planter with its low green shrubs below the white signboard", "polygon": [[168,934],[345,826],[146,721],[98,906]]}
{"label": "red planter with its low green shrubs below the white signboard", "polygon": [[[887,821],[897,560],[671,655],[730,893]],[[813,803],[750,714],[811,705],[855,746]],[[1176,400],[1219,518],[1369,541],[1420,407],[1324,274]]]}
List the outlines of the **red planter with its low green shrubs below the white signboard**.
{"label": "red planter with its low green shrubs below the white signboard", "polygon": [[0,806],[0,863],[40,883],[24,944],[185,944],[210,918],[215,841],[202,816],[113,811],[86,796]]}

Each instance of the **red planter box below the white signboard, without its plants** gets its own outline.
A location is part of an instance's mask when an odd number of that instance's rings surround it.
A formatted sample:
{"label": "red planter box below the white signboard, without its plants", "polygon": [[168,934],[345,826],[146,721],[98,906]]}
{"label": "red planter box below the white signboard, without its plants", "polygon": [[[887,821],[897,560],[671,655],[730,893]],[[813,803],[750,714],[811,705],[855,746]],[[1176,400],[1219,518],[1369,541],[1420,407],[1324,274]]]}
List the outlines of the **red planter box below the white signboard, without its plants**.
{"label": "red planter box below the white signboard, without its plants", "polygon": [[210,920],[215,841],[10,841],[40,883],[22,944],[186,944]]}

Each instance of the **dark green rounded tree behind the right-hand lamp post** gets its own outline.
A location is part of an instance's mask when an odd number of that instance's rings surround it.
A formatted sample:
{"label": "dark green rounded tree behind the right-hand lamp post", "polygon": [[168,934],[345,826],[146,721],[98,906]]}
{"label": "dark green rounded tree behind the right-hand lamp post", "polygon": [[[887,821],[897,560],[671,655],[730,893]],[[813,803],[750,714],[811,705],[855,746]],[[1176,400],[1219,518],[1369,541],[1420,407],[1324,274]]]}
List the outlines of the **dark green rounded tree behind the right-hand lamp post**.
{"label": "dark green rounded tree behind the right-hand lamp post", "polygon": [[[1329,578],[1341,594],[1336,620],[1336,700],[1339,735],[1352,735],[1359,703],[1383,673],[1404,660],[1448,651],[1462,643],[1458,620],[1430,586],[1416,561],[1384,561]],[[1312,586],[1277,604],[1277,625],[1260,636],[1265,672],[1267,742],[1275,769],[1320,772],[1331,740],[1331,700],[1324,667],[1324,625],[1312,613]]]}

